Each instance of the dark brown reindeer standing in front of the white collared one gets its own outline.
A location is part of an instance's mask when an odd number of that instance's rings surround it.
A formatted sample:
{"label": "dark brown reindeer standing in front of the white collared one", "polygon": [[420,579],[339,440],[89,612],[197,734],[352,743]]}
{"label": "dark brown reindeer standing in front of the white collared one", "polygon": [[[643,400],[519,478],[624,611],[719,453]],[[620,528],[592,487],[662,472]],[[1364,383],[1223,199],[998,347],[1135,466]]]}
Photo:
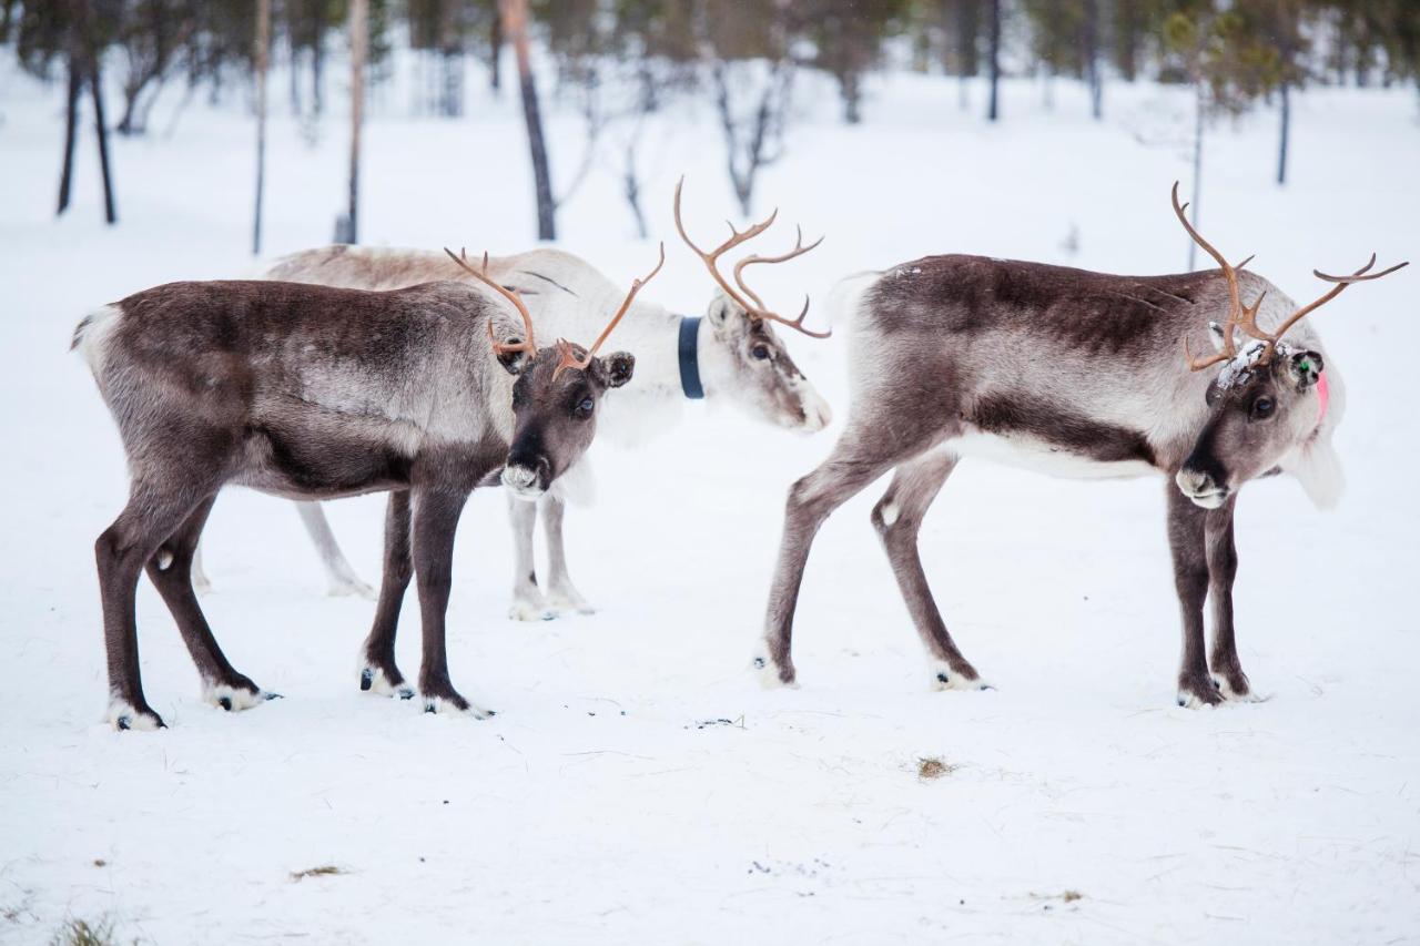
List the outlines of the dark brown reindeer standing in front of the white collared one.
{"label": "dark brown reindeer standing in front of the white collared one", "polygon": [[[227,662],[192,587],[197,540],[229,483],[293,499],[388,491],[383,585],[361,689],[413,697],[393,646],[413,577],[426,712],[488,714],[449,680],[444,611],[459,516],[469,493],[496,483],[500,469],[506,484],[531,496],[586,450],[598,403],[635,368],[626,352],[596,352],[660,271],[665,247],[588,349],[562,339],[538,349],[518,294],[487,266],[454,261],[481,286],[378,293],[169,283],[80,322],[72,347],[114,413],[132,474],[128,506],[95,543],[115,727],[163,726],[139,679],[133,598],[143,570],[182,632],[209,703],[230,712],[277,696]],[[511,339],[507,327],[504,341],[496,338],[498,297],[521,318]]]}

